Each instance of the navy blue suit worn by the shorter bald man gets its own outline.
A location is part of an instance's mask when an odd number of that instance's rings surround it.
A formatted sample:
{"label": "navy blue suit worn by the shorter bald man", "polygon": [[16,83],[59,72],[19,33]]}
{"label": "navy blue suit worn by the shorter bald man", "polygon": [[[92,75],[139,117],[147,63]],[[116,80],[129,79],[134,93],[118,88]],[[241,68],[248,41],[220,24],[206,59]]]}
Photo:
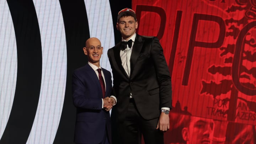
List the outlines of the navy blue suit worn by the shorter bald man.
{"label": "navy blue suit worn by the shorter bald man", "polygon": [[[106,95],[112,89],[111,73],[101,68],[105,77]],[[95,71],[89,64],[76,69],[72,78],[73,103],[76,107],[75,143],[100,143],[105,130],[111,143],[110,112],[102,109],[102,90]]]}

